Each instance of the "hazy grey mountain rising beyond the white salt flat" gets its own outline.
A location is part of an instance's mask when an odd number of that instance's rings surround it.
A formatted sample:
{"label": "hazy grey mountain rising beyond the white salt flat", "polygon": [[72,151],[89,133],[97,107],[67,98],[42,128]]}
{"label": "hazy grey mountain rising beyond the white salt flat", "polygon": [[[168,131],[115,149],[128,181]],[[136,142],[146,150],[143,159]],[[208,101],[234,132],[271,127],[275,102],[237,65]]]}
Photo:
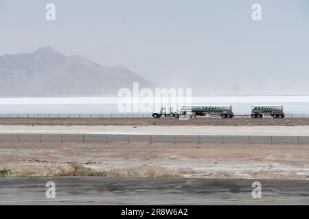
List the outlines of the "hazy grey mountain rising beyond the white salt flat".
{"label": "hazy grey mountain rising beyond the white salt flat", "polygon": [[106,67],[51,47],[0,56],[0,96],[104,96],[119,88],[153,88],[155,83],[122,65]]}

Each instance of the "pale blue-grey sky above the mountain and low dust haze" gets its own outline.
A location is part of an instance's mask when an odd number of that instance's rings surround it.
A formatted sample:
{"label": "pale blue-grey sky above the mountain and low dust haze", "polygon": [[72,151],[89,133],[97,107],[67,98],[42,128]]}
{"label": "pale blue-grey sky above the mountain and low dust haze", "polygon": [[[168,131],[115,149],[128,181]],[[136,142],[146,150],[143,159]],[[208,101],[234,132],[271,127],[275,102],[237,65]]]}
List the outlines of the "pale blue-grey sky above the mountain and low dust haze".
{"label": "pale blue-grey sky above the mountain and low dust haze", "polygon": [[[47,3],[56,21],[45,20]],[[262,21],[252,20],[253,3]],[[308,75],[308,39],[308,0],[0,0],[0,55],[48,45],[152,81]]]}

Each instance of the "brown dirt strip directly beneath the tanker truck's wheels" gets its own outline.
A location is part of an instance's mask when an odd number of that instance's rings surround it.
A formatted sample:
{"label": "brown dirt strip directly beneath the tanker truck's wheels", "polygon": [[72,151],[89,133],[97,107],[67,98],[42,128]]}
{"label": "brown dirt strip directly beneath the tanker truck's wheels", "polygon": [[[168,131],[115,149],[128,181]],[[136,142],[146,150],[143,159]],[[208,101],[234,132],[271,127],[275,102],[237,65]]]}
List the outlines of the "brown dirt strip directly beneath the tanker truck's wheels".
{"label": "brown dirt strip directly beneath the tanker truck's wheels", "polygon": [[309,126],[309,118],[192,118],[190,120],[178,120],[176,118],[12,118],[0,119],[0,125],[218,125],[218,126]]}

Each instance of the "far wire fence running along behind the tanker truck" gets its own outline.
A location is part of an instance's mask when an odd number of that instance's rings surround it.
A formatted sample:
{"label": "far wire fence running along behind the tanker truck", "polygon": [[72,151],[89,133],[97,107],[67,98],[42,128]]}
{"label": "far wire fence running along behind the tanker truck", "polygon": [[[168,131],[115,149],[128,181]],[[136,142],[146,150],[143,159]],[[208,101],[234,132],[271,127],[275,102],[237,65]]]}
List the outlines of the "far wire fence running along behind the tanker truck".
{"label": "far wire fence running along behind the tanker truck", "polygon": [[[144,114],[0,114],[0,119],[60,119],[60,118],[72,118],[72,119],[104,119],[104,118],[152,118],[152,113]],[[164,118],[164,116],[163,116]],[[170,117],[169,117],[170,118]],[[214,118],[211,116],[197,116],[196,118]],[[234,119],[237,118],[251,118],[251,114],[236,114]],[[272,118],[271,116],[264,116],[264,118]],[[309,118],[309,114],[285,114],[285,118]]]}

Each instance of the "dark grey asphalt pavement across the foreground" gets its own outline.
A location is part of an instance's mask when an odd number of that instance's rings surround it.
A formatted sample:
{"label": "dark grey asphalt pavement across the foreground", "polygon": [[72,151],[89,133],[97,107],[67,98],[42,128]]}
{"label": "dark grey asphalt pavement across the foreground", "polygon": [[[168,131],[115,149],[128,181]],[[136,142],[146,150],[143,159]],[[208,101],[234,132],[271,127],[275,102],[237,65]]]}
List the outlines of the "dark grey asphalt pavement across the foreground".
{"label": "dark grey asphalt pavement across the foreground", "polygon": [[[47,198],[48,181],[56,197]],[[149,179],[104,177],[1,177],[0,205],[309,205],[309,181]]]}

